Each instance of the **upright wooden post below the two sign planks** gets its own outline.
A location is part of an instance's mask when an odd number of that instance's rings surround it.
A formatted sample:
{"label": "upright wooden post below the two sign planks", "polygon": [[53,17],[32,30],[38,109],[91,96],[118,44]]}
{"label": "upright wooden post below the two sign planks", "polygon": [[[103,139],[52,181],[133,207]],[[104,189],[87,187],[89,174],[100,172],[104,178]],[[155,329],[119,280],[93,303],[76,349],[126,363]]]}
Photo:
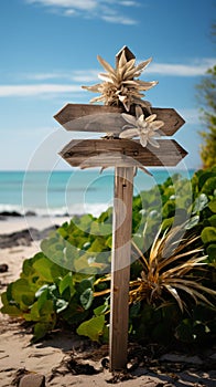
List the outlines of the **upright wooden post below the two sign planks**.
{"label": "upright wooden post below the two sign planks", "polygon": [[112,221],[110,370],[127,366],[133,167],[116,167]]}

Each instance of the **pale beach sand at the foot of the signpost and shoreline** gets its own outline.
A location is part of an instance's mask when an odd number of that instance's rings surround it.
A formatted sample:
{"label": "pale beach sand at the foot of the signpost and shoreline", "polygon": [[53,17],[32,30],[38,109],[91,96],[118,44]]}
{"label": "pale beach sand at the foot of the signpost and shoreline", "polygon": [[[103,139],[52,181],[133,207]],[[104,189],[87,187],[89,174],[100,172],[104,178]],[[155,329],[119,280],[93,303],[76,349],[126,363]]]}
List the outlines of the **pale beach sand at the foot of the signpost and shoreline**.
{"label": "pale beach sand at the foot of the signpost and shoreline", "polygon": [[[55,219],[61,224],[63,219]],[[64,219],[65,220],[65,219]],[[40,223],[34,219],[35,227],[50,227],[50,220]],[[26,228],[24,219],[10,219],[0,222],[0,234],[20,231]],[[0,273],[0,293],[6,290],[8,283],[19,278],[24,259],[39,252],[40,241],[33,241],[30,245],[17,245],[6,248],[0,251],[0,264],[8,264],[8,271]],[[107,387],[112,378],[108,369],[101,367],[101,358],[108,354],[108,347],[90,345],[89,341],[82,339],[71,332],[55,332],[41,343],[30,345],[31,333],[22,324],[22,321],[10,318],[0,314],[0,387],[19,386],[19,379],[23,373],[41,374],[45,376],[45,386],[87,386]],[[175,369],[176,354],[170,355],[170,363],[173,362]],[[213,354],[210,354],[214,358]],[[75,375],[74,370],[68,370],[66,364],[68,359],[75,358],[77,362],[93,365],[98,373],[96,375]],[[186,362],[187,360],[187,362]],[[132,378],[119,381],[118,386],[123,387],[159,387],[159,386],[208,386],[216,385],[216,374],[214,370],[202,370],[203,359],[194,356],[190,364],[188,357],[182,356],[179,363],[187,363],[184,370],[166,372],[139,366],[132,373]],[[163,363],[164,364],[164,363]],[[199,365],[199,366],[198,366]],[[20,376],[19,376],[20,375]],[[17,384],[15,384],[17,377]],[[122,378],[121,378],[122,379]]]}

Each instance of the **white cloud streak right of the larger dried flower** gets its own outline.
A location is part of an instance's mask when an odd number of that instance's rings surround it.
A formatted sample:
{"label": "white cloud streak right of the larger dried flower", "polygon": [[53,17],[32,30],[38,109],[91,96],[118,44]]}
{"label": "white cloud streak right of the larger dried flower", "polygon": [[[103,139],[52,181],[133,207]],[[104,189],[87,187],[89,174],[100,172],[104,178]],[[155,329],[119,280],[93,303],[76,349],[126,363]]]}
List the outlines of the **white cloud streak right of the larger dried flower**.
{"label": "white cloud streak right of the larger dried flower", "polygon": [[215,65],[216,59],[206,57],[193,61],[188,64],[176,63],[151,63],[145,70],[148,74],[174,75],[174,76],[199,76]]}

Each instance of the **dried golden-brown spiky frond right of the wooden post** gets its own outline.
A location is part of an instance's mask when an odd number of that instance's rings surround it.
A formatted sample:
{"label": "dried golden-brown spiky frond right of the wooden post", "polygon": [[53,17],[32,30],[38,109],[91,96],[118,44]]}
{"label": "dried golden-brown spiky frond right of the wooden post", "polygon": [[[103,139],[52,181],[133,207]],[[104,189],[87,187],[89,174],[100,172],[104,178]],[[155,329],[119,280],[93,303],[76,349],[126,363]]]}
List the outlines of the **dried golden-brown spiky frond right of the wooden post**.
{"label": "dried golden-brown spiky frond right of the wooden post", "polygon": [[[129,302],[147,300],[149,303],[164,302],[172,295],[181,311],[186,307],[186,295],[195,303],[204,302],[214,306],[204,295],[216,292],[201,283],[201,269],[206,265],[206,255],[202,248],[192,248],[198,237],[183,239],[182,227],[165,231],[162,237],[159,230],[150,250],[149,259],[132,242],[133,250],[142,264],[141,278],[130,282]],[[195,273],[199,271],[199,275]]]}

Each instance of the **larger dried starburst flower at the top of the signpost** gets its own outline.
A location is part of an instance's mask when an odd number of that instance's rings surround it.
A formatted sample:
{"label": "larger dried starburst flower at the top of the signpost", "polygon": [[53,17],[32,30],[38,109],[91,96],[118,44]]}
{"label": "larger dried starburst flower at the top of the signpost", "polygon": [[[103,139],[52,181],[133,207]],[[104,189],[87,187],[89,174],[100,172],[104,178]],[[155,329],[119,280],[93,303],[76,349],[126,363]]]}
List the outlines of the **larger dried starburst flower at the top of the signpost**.
{"label": "larger dried starburst flower at the top of the signpost", "polygon": [[158,82],[144,82],[139,79],[134,80],[134,77],[140,76],[142,71],[152,61],[152,57],[136,65],[134,59],[127,61],[125,50],[122,50],[116,69],[107,63],[101,56],[98,55],[97,59],[107,71],[107,73],[98,75],[104,82],[94,86],[82,86],[89,92],[101,94],[100,96],[90,100],[91,103],[104,102],[105,105],[112,106],[121,106],[122,104],[127,112],[130,111],[132,104],[139,104],[145,108],[151,106],[148,101],[141,100],[144,96],[141,92],[150,90],[155,86]]}

